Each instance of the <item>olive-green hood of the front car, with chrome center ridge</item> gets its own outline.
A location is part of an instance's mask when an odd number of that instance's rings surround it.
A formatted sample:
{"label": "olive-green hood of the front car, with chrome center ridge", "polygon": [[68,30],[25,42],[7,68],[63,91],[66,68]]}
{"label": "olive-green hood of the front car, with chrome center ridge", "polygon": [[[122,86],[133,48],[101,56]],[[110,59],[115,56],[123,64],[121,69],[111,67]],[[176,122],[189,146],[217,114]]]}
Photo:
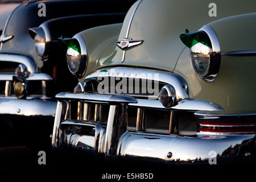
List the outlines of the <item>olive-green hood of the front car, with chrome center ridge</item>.
{"label": "olive-green hood of the front car, with chrome center ridge", "polygon": [[[217,16],[209,16],[209,4],[212,2],[217,5]],[[99,61],[101,64],[97,68],[122,65],[174,71],[185,48],[179,38],[185,29],[197,31],[215,20],[254,12],[254,0],[246,3],[238,0],[137,1],[126,15],[118,40],[144,40],[143,44],[125,51],[125,55],[122,49],[116,47],[109,59],[100,57],[99,60],[108,61]]]}

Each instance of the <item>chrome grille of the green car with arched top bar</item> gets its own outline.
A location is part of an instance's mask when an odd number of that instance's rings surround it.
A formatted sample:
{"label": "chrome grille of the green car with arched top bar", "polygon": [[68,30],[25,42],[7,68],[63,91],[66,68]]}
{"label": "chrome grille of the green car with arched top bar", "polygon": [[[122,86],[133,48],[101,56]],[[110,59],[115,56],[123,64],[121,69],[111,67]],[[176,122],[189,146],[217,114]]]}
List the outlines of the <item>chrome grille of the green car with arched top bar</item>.
{"label": "chrome grille of the green car with arched top bar", "polygon": [[[118,144],[122,143],[123,137],[131,133],[160,134],[166,136],[196,134],[195,111],[222,111],[221,107],[208,101],[190,100],[188,88],[182,77],[174,73],[157,72],[163,78],[150,80],[160,82],[159,89],[164,85],[171,85],[176,91],[177,105],[170,108],[164,107],[157,97],[152,100],[148,94],[106,94],[96,90],[99,84],[98,76],[118,78],[132,78],[133,81],[143,80],[136,77],[139,71],[156,73],[150,70],[134,68],[115,68],[117,73],[110,73],[109,69],[103,69],[90,74],[85,78],[80,92],[59,93],[53,127],[52,144],[55,148],[60,147],[85,147],[93,151],[114,156],[118,153]],[[121,73],[127,71],[130,73]],[[116,82],[114,82],[114,86]],[[134,88],[133,88],[134,89]],[[185,122],[184,122],[185,120]],[[68,127],[67,127],[68,126]],[[71,127],[73,126],[73,127]],[[95,130],[94,144],[84,135],[77,137],[77,129],[92,126]],[[82,132],[82,131],[81,131]],[[87,136],[88,137],[88,136]],[[158,138],[155,138],[158,139]],[[90,141],[90,142],[89,142]],[[89,143],[88,143],[89,142]],[[78,146],[78,143],[84,145]],[[120,151],[119,151],[120,152]]]}

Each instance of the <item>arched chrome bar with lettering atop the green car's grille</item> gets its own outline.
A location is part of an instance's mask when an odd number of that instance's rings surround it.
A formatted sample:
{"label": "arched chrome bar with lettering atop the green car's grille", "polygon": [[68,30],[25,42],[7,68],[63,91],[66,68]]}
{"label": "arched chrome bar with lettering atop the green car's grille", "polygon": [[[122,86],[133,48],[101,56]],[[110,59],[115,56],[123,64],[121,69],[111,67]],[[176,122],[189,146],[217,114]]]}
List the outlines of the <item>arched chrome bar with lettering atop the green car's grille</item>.
{"label": "arched chrome bar with lettering atop the green car's grille", "polygon": [[96,72],[90,73],[88,76],[86,76],[85,80],[88,78],[97,77],[127,77],[141,78],[147,80],[149,75],[152,76],[152,80],[172,85],[176,91],[177,101],[188,98],[187,82],[184,80],[183,77],[171,72],[155,71],[150,69],[116,67],[108,69],[99,69]]}

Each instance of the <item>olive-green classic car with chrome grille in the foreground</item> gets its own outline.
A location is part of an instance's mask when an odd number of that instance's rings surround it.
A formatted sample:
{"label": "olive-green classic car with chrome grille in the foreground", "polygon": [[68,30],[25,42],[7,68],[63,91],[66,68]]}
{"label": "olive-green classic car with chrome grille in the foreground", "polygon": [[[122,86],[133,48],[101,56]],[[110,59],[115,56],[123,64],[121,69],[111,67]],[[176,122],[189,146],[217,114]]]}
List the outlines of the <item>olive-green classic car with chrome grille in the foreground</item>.
{"label": "olive-green classic car with chrome grille in the foreground", "polygon": [[56,95],[53,149],[255,162],[255,12],[254,0],[139,0],[122,24],[60,39],[81,76]]}

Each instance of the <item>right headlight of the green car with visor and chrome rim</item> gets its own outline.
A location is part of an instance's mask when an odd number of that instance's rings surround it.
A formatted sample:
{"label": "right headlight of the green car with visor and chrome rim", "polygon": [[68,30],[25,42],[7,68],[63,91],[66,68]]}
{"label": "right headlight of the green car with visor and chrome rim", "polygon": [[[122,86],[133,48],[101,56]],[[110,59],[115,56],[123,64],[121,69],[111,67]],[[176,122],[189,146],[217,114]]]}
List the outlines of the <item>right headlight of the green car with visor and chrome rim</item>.
{"label": "right headlight of the green car with visor and chrome rim", "polygon": [[181,41],[190,48],[191,64],[203,80],[213,81],[220,69],[220,42],[210,26],[203,26],[196,32],[180,34]]}

